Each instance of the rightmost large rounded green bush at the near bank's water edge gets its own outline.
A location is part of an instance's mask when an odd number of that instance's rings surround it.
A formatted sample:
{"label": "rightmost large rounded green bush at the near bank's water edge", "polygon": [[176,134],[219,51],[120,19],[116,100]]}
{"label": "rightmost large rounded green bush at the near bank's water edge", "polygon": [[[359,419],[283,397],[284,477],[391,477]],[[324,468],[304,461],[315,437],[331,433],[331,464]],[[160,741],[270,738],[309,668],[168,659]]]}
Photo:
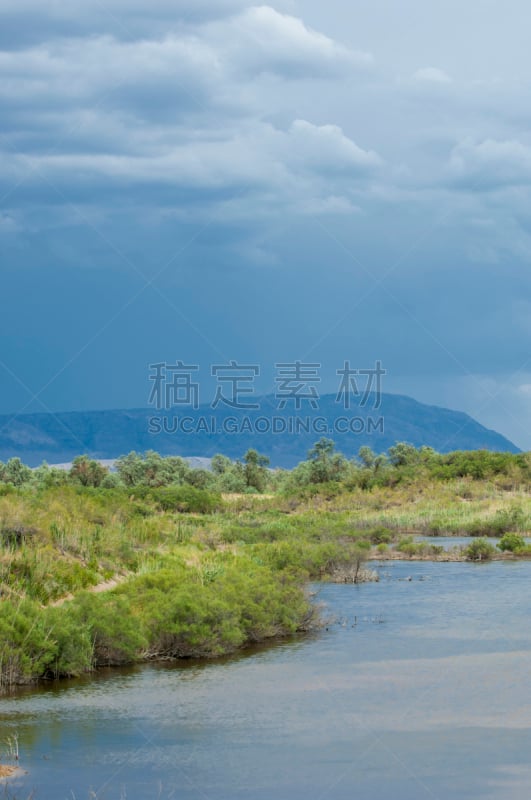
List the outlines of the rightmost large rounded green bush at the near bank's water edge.
{"label": "rightmost large rounded green bush at the near bank's water edge", "polygon": [[275,575],[256,560],[213,563],[192,574],[177,566],[120,588],[131,598],[152,656],[229,653],[246,642],[294,632],[309,614],[295,575]]}

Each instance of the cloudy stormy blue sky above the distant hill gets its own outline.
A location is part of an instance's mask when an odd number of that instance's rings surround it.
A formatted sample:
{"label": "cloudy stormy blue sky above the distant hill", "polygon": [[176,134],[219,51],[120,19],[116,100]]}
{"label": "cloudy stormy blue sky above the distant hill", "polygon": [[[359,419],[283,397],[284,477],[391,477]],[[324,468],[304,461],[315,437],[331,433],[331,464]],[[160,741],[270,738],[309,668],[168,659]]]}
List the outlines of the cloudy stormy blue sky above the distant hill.
{"label": "cloudy stormy blue sky above the distant hill", "polygon": [[2,0],[0,413],[380,361],[531,449],[524,0]]}

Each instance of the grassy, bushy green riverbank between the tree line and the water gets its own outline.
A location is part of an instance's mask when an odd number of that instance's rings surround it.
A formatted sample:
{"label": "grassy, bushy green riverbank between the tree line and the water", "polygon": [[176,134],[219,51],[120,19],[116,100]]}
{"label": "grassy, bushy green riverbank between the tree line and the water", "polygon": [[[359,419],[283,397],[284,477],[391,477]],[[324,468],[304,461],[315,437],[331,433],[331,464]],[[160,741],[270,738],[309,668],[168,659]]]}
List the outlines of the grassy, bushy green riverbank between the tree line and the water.
{"label": "grassy, bushy green riverbank between the tree line and the water", "polygon": [[0,688],[291,636],[319,625],[310,581],[376,580],[367,562],[528,558],[525,543],[509,553],[476,537],[448,551],[415,537],[516,530],[519,541],[530,512],[524,487],[463,481],[237,494],[203,513],[156,491],[10,490],[0,496]]}

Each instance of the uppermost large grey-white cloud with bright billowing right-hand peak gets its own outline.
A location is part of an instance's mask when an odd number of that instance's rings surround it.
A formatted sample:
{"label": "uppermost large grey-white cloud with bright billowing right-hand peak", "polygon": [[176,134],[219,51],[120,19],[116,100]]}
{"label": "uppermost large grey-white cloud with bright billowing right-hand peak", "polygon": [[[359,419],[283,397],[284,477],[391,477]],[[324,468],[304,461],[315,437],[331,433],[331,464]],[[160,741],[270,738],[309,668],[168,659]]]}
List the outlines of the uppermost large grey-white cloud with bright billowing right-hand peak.
{"label": "uppermost large grey-white cloud with bright billowing right-hand peak", "polygon": [[[52,4],[51,13],[62,8]],[[168,8],[159,3],[155,13]],[[97,149],[100,137],[108,139],[107,130],[115,129],[118,119],[127,146],[135,124],[142,126],[145,139],[146,129],[158,122],[197,129],[198,116],[223,127],[233,115],[255,115],[256,79],[262,74],[332,79],[369,62],[370,57],[310,30],[300,19],[268,6],[252,7],[177,32],[166,29],[160,37],[122,40],[106,32],[0,50],[0,114],[4,130],[16,134],[17,149],[21,142],[30,150],[39,142],[48,147],[54,128],[68,139],[70,130],[95,117],[101,133],[91,149]]]}

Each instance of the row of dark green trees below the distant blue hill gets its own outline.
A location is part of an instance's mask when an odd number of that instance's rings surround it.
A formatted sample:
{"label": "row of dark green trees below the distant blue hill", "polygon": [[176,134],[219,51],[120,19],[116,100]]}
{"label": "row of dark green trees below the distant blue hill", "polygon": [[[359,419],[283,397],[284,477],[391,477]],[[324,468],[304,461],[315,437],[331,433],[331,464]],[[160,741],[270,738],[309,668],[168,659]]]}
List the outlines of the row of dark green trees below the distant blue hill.
{"label": "row of dark green trees below the distant blue hill", "polygon": [[75,458],[69,469],[49,466],[36,469],[20,458],[0,462],[0,488],[52,488],[85,486],[97,489],[142,489],[183,487],[190,496],[197,492],[264,493],[311,492],[329,484],[330,489],[370,489],[408,481],[446,481],[455,478],[495,479],[510,485],[531,478],[531,453],[499,453],[490,450],[438,453],[431,447],[397,442],[387,453],[361,447],[347,458],[331,439],[322,438],[307,458],[291,470],[271,469],[268,456],[249,449],[241,460],[213,456],[210,469],[194,468],[179,456],[161,456],[153,450],[131,452],[118,458],[113,469],[88,455]]}

